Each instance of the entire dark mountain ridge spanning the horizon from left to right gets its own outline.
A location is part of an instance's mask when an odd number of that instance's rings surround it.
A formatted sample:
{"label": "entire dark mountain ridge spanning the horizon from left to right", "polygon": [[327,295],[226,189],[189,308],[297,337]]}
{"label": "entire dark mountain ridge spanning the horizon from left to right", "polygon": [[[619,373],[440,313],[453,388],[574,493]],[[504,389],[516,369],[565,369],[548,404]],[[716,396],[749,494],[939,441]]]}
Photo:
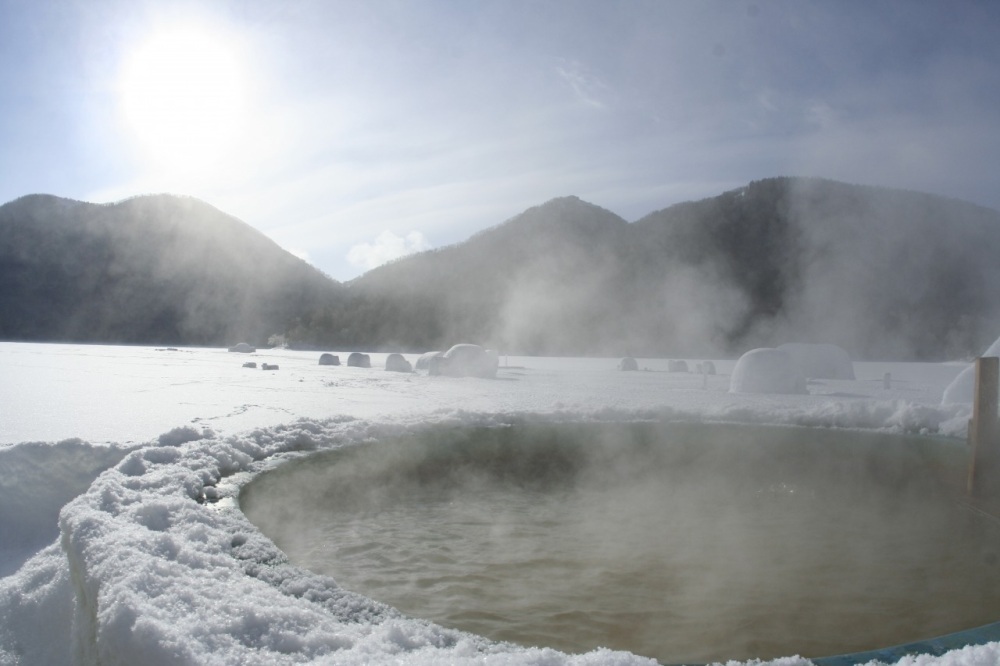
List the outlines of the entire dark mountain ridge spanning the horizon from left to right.
{"label": "entire dark mountain ridge spanning the horizon from left to right", "polygon": [[770,178],[633,223],[553,199],[341,285],[196,199],[32,195],[0,206],[0,338],[956,358],[1000,335],[998,253],[994,210]]}

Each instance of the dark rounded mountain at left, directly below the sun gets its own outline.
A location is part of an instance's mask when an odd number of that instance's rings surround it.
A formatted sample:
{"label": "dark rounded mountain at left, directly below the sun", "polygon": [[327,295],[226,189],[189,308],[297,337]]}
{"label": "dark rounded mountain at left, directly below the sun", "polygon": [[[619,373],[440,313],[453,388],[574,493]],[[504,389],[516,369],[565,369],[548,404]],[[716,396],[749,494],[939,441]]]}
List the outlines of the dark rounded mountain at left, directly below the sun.
{"label": "dark rounded mountain at left, directly below the sun", "polygon": [[189,197],[0,206],[0,339],[263,344],[343,287]]}

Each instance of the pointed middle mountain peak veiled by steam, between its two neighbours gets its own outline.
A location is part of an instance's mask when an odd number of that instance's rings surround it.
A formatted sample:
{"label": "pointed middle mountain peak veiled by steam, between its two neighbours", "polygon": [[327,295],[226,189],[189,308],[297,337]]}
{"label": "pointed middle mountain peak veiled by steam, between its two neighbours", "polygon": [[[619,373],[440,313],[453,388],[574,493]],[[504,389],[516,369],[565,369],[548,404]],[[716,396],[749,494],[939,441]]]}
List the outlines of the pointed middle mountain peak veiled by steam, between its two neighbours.
{"label": "pointed middle mountain peak veiled by steam, between its two neighbours", "polygon": [[[566,197],[464,243],[380,266],[347,284],[351,302],[331,316],[341,325],[338,342],[430,349],[452,340],[516,339],[532,353],[569,351],[548,343],[552,332],[543,324],[577,326],[583,322],[574,315],[583,310],[551,302],[583,295],[587,276],[621,253],[627,228],[617,215]],[[512,316],[514,309],[531,311],[534,323],[521,326],[525,318]],[[556,312],[564,316],[552,319]],[[509,331],[498,328],[508,324]]]}

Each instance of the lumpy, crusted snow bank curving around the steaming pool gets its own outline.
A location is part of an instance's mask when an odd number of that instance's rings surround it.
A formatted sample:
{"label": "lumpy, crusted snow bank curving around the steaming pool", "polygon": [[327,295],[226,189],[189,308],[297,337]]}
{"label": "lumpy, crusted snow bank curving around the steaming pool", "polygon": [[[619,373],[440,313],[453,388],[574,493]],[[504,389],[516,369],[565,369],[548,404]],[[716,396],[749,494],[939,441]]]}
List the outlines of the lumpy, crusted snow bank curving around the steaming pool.
{"label": "lumpy, crusted snow bank curving around the steaming pool", "polygon": [[[754,398],[697,409],[452,410],[409,420],[302,420],[225,438],[176,429],[131,452],[117,451],[113,466],[62,509],[58,541],[0,579],[0,663],[653,664],[608,650],[567,655],[495,643],[405,617],[290,565],[235,498],[254,474],[306,452],[442,424],[690,419],[943,432],[965,420],[952,410],[900,400],[802,405]],[[87,450],[82,443],[49,446]],[[110,455],[92,448],[89,467]],[[20,490],[50,508],[59,501],[46,495],[59,492],[52,486]],[[1000,646],[921,663],[983,663],[983,655],[1000,660]]]}

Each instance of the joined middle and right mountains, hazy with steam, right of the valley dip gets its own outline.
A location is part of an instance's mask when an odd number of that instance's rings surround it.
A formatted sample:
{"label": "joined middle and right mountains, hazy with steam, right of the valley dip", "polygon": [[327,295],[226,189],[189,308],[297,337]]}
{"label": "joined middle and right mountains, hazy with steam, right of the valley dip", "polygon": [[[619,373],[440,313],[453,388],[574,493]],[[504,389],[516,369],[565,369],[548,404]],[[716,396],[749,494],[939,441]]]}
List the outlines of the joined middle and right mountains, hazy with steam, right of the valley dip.
{"label": "joined middle and right mountains, hazy with steam, right of the valley dip", "polygon": [[628,223],[554,199],[347,283],[293,339],[535,354],[975,354],[1000,333],[1000,213],[917,192],[772,178]]}

